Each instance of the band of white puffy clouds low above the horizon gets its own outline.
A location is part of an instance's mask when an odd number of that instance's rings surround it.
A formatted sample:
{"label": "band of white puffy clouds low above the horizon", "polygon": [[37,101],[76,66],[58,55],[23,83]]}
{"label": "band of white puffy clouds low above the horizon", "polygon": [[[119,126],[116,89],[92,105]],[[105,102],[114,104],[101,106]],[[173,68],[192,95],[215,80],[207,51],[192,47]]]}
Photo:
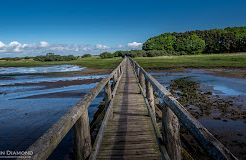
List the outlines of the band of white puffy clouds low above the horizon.
{"label": "band of white puffy clouds low above the horizon", "polygon": [[50,44],[48,41],[40,41],[38,43],[21,43],[12,41],[4,43],[0,41],[0,57],[19,57],[19,56],[36,56],[53,52],[61,55],[83,55],[86,53],[99,54],[101,52],[116,50],[135,50],[141,49],[142,43],[129,42],[126,45],[118,44],[116,46],[108,46],[105,44]]}

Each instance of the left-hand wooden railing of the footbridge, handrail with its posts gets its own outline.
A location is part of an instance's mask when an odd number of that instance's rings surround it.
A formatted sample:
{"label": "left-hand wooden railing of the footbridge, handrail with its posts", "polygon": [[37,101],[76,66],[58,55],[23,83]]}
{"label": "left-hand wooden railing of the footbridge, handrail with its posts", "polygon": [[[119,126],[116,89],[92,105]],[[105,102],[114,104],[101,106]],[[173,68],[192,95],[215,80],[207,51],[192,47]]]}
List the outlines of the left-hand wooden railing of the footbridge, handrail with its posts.
{"label": "left-hand wooden railing of the footbridge, handrail with its posts", "polygon": [[[49,128],[39,139],[37,139],[27,151],[33,151],[31,159],[47,159],[62,141],[69,130],[75,129],[75,158],[86,159],[91,152],[91,139],[89,129],[88,107],[97,95],[106,88],[106,101],[111,98],[110,80],[117,80],[125,67],[126,58],[118,65],[112,73],[102,79],[95,88],[84,96],[75,106],[71,107],[51,128]],[[116,78],[117,77],[117,78]]]}

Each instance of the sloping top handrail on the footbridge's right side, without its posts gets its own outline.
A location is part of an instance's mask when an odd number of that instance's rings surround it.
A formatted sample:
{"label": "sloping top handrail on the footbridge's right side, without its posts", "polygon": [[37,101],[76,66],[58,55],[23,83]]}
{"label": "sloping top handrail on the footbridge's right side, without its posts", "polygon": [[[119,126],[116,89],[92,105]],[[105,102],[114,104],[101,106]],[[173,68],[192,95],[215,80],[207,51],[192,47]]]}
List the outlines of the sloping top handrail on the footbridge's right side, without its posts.
{"label": "sloping top handrail on the footbridge's right side, without its posts", "polygon": [[[131,60],[132,65],[135,68],[142,88],[146,88],[146,86],[144,87],[143,83],[145,79],[145,81],[150,83],[158,98],[161,98],[164,101],[165,105],[162,106],[163,110],[170,108],[171,112],[173,112],[175,116],[177,116],[179,122],[181,122],[183,126],[198,140],[201,146],[213,159],[237,160],[237,158],[205,127],[203,127],[203,125],[198,120],[196,120],[163,85],[161,85],[156,79],[148,74],[136,61],[134,61],[132,58],[129,59]],[[170,114],[171,113],[168,113],[168,115]],[[172,156],[170,157],[172,158]]]}

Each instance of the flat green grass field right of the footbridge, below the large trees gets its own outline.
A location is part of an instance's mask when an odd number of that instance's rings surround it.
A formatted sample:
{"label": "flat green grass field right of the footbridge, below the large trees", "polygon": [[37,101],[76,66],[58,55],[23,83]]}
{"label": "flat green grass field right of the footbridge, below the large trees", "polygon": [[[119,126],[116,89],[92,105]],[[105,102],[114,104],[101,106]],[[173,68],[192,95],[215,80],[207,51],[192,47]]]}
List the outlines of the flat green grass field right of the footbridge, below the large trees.
{"label": "flat green grass field right of the footbridge, below the large trees", "polygon": [[246,53],[138,57],[135,60],[147,69],[246,68]]}

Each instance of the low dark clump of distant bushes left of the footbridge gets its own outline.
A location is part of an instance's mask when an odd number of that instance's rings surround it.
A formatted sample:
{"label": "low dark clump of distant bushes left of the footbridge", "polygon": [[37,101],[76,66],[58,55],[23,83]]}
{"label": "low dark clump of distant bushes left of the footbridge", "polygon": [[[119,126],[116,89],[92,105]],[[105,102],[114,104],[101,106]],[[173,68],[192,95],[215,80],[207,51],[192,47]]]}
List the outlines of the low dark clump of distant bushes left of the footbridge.
{"label": "low dark clump of distant bushes left of the footbridge", "polygon": [[68,55],[68,56],[61,56],[54,53],[47,53],[45,56],[36,56],[33,58],[34,61],[41,61],[41,62],[48,62],[48,61],[72,61],[76,60],[79,57]]}

